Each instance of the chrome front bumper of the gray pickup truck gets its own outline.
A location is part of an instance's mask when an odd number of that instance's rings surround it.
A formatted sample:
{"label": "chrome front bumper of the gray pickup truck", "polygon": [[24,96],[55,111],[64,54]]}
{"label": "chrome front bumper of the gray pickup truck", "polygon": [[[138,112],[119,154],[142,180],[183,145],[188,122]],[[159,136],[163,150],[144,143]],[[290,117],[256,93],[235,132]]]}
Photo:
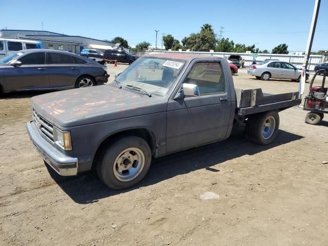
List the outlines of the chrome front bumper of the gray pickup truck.
{"label": "chrome front bumper of the gray pickup truck", "polygon": [[27,123],[27,132],[39,155],[61,176],[77,175],[78,159],[65,155],[45,139],[34,121]]}

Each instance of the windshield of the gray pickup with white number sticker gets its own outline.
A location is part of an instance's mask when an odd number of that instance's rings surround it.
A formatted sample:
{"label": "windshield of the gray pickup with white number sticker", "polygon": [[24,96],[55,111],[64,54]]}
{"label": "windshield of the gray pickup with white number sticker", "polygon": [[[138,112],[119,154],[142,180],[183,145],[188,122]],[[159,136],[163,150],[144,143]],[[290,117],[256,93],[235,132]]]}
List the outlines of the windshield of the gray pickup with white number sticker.
{"label": "windshield of the gray pickup with white number sticker", "polygon": [[138,87],[148,93],[165,96],[184,66],[183,60],[140,57],[116,81],[122,87]]}

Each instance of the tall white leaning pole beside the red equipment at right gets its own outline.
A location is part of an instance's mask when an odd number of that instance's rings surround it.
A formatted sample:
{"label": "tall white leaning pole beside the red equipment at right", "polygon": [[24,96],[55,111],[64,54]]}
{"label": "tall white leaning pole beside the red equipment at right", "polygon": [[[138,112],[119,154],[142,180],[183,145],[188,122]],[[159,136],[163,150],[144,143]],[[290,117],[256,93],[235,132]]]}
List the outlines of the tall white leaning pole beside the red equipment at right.
{"label": "tall white leaning pole beside the red equipment at right", "polygon": [[321,2],[321,0],[316,0],[316,2],[314,4],[312,22],[311,22],[310,33],[309,33],[309,38],[308,38],[308,45],[306,45],[306,50],[305,50],[304,59],[303,59],[303,66],[302,66],[302,76],[301,76],[301,81],[300,81],[299,87],[298,87],[299,98],[301,98],[302,94],[304,93],[306,69],[308,68],[308,65],[309,65],[309,58],[310,58],[310,54],[311,54],[314,33],[316,31],[320,2]]}

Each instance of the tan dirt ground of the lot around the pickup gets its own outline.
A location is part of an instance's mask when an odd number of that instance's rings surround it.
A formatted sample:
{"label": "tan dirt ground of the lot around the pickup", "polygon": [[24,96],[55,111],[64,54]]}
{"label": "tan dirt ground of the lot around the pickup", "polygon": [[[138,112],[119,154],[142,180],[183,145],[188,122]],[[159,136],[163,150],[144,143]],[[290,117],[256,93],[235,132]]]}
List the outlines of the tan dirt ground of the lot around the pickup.
{"label": "tan dirt ground of the lot around the pickup", "polygon": [[[108,66],[111,79],[127,67]],[[233,78],[239,88],[298,89],[246,69]],[[25,127],[38,94],[0,98],[0,245],[328,245],[328,121],[307,125],[294,107],[280,113],[272,145],[239,131],[155,159],[138,186],[113,191],[91,173],[60,177],[44,165]]]}

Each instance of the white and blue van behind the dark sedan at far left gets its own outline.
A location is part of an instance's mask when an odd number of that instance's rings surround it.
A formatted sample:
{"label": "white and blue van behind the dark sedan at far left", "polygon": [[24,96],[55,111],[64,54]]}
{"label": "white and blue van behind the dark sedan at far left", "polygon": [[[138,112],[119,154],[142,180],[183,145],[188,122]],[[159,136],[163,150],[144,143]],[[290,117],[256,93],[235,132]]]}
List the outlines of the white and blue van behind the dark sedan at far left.
{"label": "white and blue van behind the dark sedan at far left", "polygon": [[42,42],[33,40],[0,38],[0,58],[18,50],[42,49],[42,46]]}

